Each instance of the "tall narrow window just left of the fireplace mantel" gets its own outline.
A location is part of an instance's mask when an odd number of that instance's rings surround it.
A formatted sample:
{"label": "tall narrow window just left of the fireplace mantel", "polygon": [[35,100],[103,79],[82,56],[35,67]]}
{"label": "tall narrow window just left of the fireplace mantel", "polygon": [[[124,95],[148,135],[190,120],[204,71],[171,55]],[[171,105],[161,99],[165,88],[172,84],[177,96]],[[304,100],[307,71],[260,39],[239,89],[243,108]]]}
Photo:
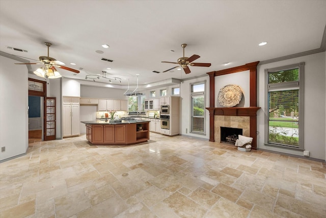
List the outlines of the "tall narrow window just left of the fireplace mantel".
{"label": "tall narrow window just left of the fireplace mantel", "polygon": [[205,83],[191,84],[191,132],[205,134]]}

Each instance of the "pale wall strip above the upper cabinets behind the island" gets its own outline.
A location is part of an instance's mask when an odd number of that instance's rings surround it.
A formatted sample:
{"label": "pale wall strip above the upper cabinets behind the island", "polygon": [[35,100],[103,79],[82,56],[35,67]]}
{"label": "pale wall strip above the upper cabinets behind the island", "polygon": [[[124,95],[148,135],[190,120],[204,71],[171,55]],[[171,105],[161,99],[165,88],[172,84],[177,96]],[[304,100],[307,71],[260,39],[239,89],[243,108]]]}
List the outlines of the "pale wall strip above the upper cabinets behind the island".
{"label": "pale wall strip above the upper cabinets behind the island", "polygon": [[[127,90],[127,89],[126,89]],[[104,88],[94,86],[80,86],[80,97],[82,98],[96,98],[96,99],[120,99],[127,100],[128,96],[123,95],[126,91],[117,88]]]}

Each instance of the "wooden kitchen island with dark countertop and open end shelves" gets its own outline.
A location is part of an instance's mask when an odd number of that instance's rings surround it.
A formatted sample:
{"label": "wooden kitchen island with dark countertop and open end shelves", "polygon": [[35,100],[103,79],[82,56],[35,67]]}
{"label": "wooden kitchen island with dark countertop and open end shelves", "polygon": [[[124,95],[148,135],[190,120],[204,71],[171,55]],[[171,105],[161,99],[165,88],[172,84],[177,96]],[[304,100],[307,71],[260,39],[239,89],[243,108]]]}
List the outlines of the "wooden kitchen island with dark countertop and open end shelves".
{"label": "wooden kitchen island with dark countertop and open end shelves", "polygon": [[90,120],[86,124],[86,139],[92,144],[137,144],[149,140],[149,121]]}

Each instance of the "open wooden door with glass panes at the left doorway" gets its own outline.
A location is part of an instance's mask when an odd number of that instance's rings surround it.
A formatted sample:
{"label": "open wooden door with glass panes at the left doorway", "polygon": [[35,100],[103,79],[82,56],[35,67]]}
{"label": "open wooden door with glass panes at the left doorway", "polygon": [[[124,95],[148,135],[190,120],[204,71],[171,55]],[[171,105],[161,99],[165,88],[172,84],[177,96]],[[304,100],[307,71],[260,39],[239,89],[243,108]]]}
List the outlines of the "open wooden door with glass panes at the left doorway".
{"label": "open wooden door with glass panes at the left doorway", "polygon": [[44,141],[56,139],[56,98],[45,98],[45,129],[44,129]]}

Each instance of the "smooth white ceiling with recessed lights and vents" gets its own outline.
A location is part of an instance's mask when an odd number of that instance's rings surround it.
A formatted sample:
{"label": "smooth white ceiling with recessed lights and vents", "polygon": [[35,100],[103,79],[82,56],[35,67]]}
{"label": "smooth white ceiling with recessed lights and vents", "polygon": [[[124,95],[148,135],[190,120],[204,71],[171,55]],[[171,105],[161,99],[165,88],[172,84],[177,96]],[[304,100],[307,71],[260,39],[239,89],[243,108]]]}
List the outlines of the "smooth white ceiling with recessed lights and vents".
{"label": "smooth white ceiling with recessed lights and vents", "polygon": [[[122,85],[128,79],[136,84],[140,74],[142,85],[319,49],[325,25],[326,1],[1,0],[0,50],[38,60],[47,56],[44,42],[51,42],[50,57],[83,68],[76,76],[59,68],[64,77],[85,79],[106,70],[107,77],[122,78]],[[262,41],[268,44],[258,46]],[[182,43],[186,57],[200,55],[194,62],[211,66],[191,66],[188,75],[162,72],[175,65],[161,61],[182,57]]]}

